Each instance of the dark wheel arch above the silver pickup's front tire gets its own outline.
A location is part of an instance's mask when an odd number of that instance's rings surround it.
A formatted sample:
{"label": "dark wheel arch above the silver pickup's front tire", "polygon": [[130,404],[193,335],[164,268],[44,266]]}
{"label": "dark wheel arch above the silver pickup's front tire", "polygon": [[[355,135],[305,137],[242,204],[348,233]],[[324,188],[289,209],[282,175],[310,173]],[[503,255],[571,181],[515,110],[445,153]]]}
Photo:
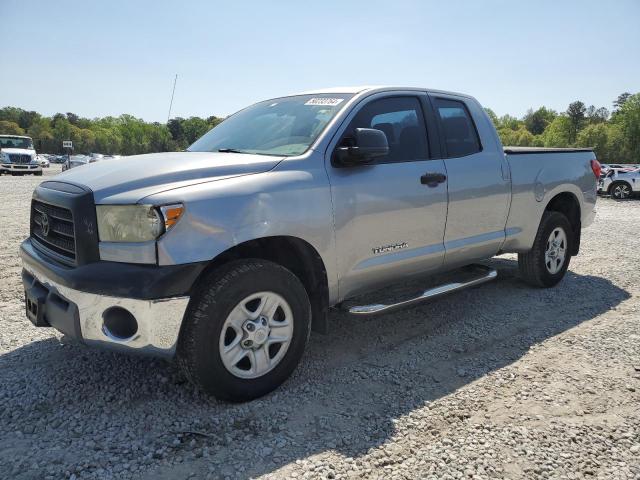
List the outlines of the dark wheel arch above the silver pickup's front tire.
{"label": "dark wheel arch above the silver pickup's front tire", "polygon": [[322,256],[307,241],[293,236],[279,235],[248,240],[218,254],[194,282],[194,289],[214,269],[238,259],[269,260],[290,270],[304,285],[311,303],[315,332],[328,331],[329,284]]}

